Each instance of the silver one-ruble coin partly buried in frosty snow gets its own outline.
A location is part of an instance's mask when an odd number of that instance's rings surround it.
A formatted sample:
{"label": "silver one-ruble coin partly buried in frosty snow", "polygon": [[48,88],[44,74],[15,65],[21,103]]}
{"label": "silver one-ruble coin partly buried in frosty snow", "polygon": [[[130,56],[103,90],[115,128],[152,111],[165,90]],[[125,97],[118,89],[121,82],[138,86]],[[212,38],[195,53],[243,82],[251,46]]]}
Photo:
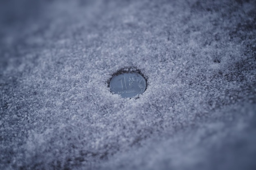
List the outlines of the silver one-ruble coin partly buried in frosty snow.
{"label": "silver one-ruble coin partly buried in frosty snow", "polygon": [[123,98],[135,97],[144,93],[145,90],[146,80],[139,73],[122,73],[110,80],[110,91]]}

